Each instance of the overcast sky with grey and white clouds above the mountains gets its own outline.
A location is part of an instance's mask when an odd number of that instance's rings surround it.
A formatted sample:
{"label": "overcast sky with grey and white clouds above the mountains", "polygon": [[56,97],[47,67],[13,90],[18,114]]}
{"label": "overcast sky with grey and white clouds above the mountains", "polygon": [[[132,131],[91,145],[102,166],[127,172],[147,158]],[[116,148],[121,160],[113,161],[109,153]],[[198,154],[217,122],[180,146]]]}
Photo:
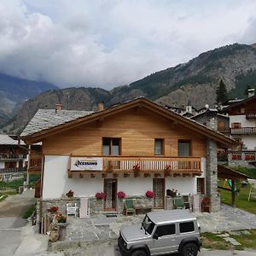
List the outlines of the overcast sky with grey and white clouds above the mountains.
{"label": "overcast sky with grey and white clouds above the mountains", "polygon": [[1,0],[0,73],[111,89],[256,43],[254,0]]}

